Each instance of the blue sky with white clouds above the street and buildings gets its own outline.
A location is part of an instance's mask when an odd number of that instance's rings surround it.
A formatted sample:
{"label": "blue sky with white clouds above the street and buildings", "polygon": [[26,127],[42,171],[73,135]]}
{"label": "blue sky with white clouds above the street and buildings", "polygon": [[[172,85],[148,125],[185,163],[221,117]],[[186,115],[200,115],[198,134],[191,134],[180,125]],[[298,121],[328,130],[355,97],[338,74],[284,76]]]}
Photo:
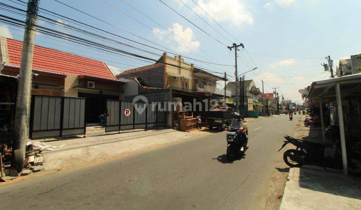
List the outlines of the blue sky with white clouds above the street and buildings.
{"label": "blue sky with white clouds above the street and buildings", "polygon": [[[226,64],[185,58],[185,62],[218,72],[217,75],[227,72],[231,81],[234,81],[235,56],[234,51],[227,46],[241,42],[245,47],[238,51],[238,72],[258,67],[246,73],[246,79],[254,79],[261,90],[263,80],[264,92],[272,92],[272,88],[276,87],[285,99],[296,102],[302,102],[298,89],[303,89],[312,81],[329,78],[330,73],[321,66],[322,62],[326,62],[326,56],[330,55],[334,60],[335,69],[338,59],[361,53],[361,27],[357,27],[361,17],[361,0],[161,0],[170,8],[160,0],[59,1],[98,19],[55,0],[40,0],[40,7],[139,43],[159,49],[167,48],[174,54]],[[25,8],[9,0],[2,2]],[[8,11],[1,12],[25,19]],[[49,16],[42,10],[39,14]],[[49,17],[72,24],[71,21]],[[153,54],[76,33],[61,24],[51,25],[45,21],[38,21],[38,24],[153,59],[158,59],[162,54],[161,50],[134,44],[119,36],[102,34]],[[24,32],[22,28],[0,22],[0,35],[23,40]],[[151,64],[129,56],[101,52],[40,32],[36,36],[36,44],[103,60],[115,74]],[[223,82],[219,82],[219,87],[223,86]]]}

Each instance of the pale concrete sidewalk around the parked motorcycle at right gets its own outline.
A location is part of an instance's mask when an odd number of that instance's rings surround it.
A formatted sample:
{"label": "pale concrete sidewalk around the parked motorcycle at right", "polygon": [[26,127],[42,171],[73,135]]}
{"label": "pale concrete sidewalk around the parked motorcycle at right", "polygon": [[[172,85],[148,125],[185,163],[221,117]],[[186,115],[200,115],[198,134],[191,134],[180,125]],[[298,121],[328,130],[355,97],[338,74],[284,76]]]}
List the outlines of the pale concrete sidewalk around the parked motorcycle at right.
{"label": "pale concrete sidewalk around the parked motorcycle at right", "polygon": [[[305,127],[304,117],[294,137],[323,142],[321,129]],[[280,209],[360,209],[361,179],[340,172],[313,165],[290,168]]]}

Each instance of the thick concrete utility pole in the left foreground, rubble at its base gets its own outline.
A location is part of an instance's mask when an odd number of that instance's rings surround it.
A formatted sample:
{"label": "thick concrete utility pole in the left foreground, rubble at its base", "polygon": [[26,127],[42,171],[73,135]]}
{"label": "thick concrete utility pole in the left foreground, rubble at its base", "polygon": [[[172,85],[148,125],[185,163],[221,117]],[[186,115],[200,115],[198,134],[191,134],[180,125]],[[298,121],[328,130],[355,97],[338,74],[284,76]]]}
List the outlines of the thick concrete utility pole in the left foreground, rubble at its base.
{"label": "thick concrete utility pole in the left foreground, rubble at its base", "polygon": [[18,172],[23,169],[25,146],[30,117],[30,97],[32,88],[32,65],[34,39],[39,0],[29,0],[24,32],[22,60],[20,63],[19,84],[15,112],[12,166]]}

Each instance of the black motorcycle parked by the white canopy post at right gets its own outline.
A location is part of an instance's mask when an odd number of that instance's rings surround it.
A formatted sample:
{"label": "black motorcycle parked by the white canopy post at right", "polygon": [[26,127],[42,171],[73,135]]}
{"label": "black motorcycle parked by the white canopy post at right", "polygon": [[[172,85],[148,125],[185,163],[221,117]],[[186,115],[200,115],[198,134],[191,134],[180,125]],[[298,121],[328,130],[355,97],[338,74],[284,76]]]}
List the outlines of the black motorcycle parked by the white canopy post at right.
{"label": "black motorcycle parked by the white canopy post at right", "polygon": [[[329,168],[342,168],[342,155],[339,142],[331,145],[310,142],[297,139],[289,135],[284,136],[280,151],[288,143],[296,146],[296,149],[288,149],[283,153],[283,160],[290,167],[301,167],[302,165],[319,165]],[[349,174],[361,175],[361,158],[352,151],[347,151],[347,169]]]}

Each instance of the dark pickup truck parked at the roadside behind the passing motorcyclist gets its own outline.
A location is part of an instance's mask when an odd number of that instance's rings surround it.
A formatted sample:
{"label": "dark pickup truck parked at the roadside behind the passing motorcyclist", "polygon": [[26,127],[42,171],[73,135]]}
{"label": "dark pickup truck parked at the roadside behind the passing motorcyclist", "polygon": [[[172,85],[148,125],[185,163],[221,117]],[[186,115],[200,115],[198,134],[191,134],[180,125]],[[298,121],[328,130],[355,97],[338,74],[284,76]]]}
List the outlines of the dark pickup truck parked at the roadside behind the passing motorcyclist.
{"label": "dark pickup truck parked at the roadside behind the passing motorcyclist", "polygon": [[[223,109],[223,108],[221,108]],[[209,129],[217,127],[219,130],[225,129],[231,124],[234,112],[233,108],[227,107],[227,110],[213,109],[209,111],[200,111],[202,122],[207,125]]]}

